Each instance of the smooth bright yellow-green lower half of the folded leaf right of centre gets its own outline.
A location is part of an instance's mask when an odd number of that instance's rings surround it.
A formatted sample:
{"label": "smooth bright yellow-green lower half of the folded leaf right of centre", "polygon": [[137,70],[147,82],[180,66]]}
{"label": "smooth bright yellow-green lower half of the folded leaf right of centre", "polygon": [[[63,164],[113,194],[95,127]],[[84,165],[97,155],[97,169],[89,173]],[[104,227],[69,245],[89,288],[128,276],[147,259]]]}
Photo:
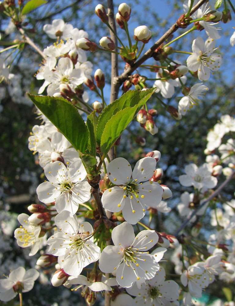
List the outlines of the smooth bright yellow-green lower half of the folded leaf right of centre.
{"label": "smooth bright yellow-green lower half of the folded leaf right of centre", "polygon": [[135,116],[136,108],[137,106],[122,109],[106,123],[100,143],[100,150],[104,155],[108,153],[114,142],[131,122]]}

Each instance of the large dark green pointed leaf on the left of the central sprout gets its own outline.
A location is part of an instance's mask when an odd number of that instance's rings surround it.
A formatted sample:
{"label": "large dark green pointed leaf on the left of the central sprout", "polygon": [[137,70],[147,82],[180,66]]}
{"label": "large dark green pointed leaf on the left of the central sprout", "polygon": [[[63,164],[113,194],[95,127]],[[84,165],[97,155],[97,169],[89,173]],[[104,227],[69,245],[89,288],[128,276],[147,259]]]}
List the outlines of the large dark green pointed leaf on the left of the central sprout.
{"label": "large dark green pointed leaf on the left of the central sprout", "polygon": [[63,98],[32,94],[28,96],[72,146],[85,153],[88,146],[88,129],[75,106]]}

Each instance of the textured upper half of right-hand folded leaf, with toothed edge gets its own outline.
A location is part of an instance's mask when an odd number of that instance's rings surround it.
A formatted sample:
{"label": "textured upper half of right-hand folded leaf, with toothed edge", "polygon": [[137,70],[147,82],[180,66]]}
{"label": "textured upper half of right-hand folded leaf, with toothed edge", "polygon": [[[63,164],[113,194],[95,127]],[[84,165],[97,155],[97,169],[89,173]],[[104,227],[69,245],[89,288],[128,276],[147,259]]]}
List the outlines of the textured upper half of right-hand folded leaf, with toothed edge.
{"label": "textured upper half of right-hand folded leaf, with toothed edge", "polygon": [[[136,106],[136,113],[144,105],[144,103],[151,97],[155,92],[156,88],[148,89],[145,91],[142,90],[129,90],[123,94],[119,99],[115,100],[113,103],[108,105],[103,113],[100,115],[98,124],[97,124],[97,143],[100,145],[101,137],[106,126],[106,123],[110,118],[118,113],[120,110],[127,107]],[[134,114],[135,115],[135,114]],[[134,117],[134,116],[133,116]]]}

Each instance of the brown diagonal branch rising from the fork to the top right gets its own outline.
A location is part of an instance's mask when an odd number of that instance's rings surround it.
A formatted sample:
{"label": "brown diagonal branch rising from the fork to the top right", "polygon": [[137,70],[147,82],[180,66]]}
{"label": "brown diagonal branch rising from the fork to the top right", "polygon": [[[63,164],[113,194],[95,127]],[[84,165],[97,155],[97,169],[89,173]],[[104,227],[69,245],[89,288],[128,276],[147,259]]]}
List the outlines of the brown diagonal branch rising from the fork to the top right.
{"label": "brown diagonal branch rising from the fork to the top right", "polygon": [[[205,3],[206,1],[207,0],[200,0],[192,8],[189,16],[191,16],[197,9],[199,9],[199,7],[202,6],[203,3]],[[145,52],[144,55],[137,62],[134,63],[132,67],[124,71],[118,78],[116,78],[116,80],[114,81],[115,82],[114,86],[120,87],[121,84],[132,74],[132,72],[134,72],[138,67],[140,67],[142,63],[144,63],[147,59],[149,59],[151,55],[153,54],[154,50],[158,48],[171,34],[177,31],[177,29],[178,29],[178,26],[176,25],[176,23],[173,24],[170,27],[170,29],[164,35],[162,35],[162,37],[158,41],[156,41],[155,44],[150,49],[148,49],[148,51]]]}

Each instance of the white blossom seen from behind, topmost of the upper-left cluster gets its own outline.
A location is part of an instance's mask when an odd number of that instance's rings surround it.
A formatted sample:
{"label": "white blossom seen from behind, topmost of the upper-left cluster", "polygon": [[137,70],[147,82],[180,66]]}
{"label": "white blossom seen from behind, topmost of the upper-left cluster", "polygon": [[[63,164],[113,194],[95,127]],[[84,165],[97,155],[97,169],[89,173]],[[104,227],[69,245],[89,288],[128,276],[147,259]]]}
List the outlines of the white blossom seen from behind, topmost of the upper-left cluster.
{"label": "white blossom seen from behind, topmost of the upper-left cluster", "polygon": [[51,25],[46,24],[43,26],[43,31],[52,39],[56,39],[59,36],[66,40],[71,37],[72,30],[73,25],[66,24],[62,19],[54,19]]}

